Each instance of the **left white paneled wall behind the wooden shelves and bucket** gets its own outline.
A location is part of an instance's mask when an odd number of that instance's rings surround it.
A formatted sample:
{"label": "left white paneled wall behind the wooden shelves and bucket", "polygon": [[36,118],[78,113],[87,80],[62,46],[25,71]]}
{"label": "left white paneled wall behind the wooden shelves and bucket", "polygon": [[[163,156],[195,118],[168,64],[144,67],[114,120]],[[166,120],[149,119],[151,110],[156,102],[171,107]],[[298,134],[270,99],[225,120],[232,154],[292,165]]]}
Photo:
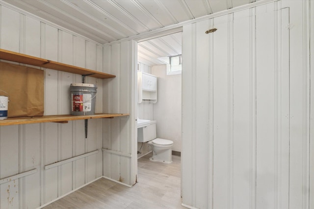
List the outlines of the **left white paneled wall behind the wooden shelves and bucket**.
{"label": "left white paneled wall behind the wooden shelves and bucket", "polygon": [[[0,48],[70,65],[103,71],[103,47],[0,5]],[[77,74],[45,70],[45,115],[70,114],[70,84]],[[98,86],[96,112],[103,112],[102,79],[86,78]],[[128,105],[128,104],[127,104]],[[38,208],[103,176],[103,119],[65,124],[38,123],[0,127],[0,179],[35,170],[2,182],[0,208]],[[122,124],[123,125],[123,124]],[[50,169],[44,166],[90,151],[97,154]]]}

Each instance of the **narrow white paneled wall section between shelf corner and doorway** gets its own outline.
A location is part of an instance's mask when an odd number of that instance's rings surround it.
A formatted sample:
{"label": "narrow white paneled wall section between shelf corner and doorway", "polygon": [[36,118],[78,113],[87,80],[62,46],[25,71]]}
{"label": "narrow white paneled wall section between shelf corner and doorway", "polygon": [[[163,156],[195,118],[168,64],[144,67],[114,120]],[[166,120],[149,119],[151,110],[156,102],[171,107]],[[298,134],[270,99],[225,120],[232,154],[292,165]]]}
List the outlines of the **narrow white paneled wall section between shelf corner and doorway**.
{"label": "narrow white paneled wall section between shelf corner and doorway", "polygon": [[104,81],[104,112],[130,113],[130,117],[104,119],[104,176],[127,186],[135,184],[137,174],[136,50],[134,41],[104,46],[105,72],[116,75]]}

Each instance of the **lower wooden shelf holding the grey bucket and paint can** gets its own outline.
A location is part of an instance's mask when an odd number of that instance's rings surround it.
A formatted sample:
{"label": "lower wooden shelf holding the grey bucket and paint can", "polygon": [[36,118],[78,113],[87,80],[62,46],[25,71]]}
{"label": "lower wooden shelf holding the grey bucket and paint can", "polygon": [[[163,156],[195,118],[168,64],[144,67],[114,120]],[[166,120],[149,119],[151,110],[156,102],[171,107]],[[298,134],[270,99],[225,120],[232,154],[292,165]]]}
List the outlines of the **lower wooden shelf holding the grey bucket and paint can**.
{"label": "lower wooden shelf holding the grey bucket and paint can", "polygon": [[90,116],[72,116],[72,115],[56,115],[56,116],[34,116],[34,117],[9,117],[4,120],[0,120],[0,126],[5,125],[19,125],[29,123],[45,123],[45,122],[56,122],[56,123],[67,123],[69,120],[83,120],[83,119],[94,119],[94,118],[113,118],[120,116],[129,116],[130,114],[96,114]]}

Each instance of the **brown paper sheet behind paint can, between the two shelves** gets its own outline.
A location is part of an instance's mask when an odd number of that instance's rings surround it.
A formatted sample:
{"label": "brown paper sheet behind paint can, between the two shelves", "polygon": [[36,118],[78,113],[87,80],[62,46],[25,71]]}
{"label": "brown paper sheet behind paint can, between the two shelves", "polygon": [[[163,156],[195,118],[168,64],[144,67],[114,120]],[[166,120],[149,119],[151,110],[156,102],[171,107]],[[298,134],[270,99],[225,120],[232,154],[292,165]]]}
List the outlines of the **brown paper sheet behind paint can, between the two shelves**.
{"label": "brown paper sheet behind paint can, between the two shelves", "polygon": [[0,90],[9,94],[8,117],[44,115],[43,70],[0,62]]}

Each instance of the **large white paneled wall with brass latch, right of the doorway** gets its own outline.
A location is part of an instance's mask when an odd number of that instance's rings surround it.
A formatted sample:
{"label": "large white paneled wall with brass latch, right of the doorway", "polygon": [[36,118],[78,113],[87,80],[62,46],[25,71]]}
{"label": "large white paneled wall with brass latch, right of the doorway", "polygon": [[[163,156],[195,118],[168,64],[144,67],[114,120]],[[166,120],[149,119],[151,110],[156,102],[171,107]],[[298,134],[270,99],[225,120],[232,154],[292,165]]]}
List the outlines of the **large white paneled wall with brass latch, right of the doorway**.
{"label": "large white paneled wall with brass latch, right of the doorway", "polygon": [[309,208],[309,5],[183,26],[183,205]]}

